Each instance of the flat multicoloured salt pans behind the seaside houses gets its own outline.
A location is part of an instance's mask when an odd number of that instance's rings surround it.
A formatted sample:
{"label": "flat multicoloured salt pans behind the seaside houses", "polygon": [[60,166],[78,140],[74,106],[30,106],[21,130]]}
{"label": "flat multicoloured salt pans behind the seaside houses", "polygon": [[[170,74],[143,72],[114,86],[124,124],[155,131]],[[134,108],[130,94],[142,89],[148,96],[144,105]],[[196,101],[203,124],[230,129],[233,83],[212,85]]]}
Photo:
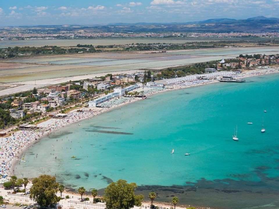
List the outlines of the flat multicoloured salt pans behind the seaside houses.
{"label": "flat multicoloured salt pans behind the seaside houses", "polygon": [[[164,69],[171,66],[181,66],[198,62],[234,58],[239,54],[261,53],[278,54],[276,47],[237,47],[210,48],[196,50],[169,51],[167,53],[150,52],[108,52],[70,55],[48,55],[0,62],[0,82],[7,84],[23,84],[16,91],[29,90],[33,85],[49,85],[76,80],[72,77],[82,76],[82,79],[95,77],[96,74],[144,69]],[[6,67],[5,67],[6,66]],[[49,82],[51,80],[51,82]],[[30,81],[28,84],[26,81]],[[61,81],[62,82],[62,81]],[[32,87],[28,87],[31,85]],[[10,89],[11,90],[11,89]],[[15,92],[15,90],[11,90]],[[0,91],[0,95],[9,94],[9,89]]]}

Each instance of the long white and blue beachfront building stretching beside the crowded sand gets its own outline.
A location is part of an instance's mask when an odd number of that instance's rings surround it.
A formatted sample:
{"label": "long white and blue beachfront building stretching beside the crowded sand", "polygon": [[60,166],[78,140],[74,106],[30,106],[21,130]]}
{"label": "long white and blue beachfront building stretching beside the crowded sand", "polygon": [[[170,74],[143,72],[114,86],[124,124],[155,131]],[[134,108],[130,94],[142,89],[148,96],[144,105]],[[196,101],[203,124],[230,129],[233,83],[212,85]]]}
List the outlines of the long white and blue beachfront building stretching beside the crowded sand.
{"label": "long white and blue beachfront building stretching beside the crowded sand", "polygon": [[103,102],[107,102],[108,100],[111,100],[113,98],[119,98],[124,96],[125,91],[133,91],[134,89],[140,88],[140,85],[135,84],[128,86],[126,88],[115,88],[113,89],[113,93],[108,93],[107,95],[91,100],[88,102],[88,107],[97,107],[98,105],[102,104]]}

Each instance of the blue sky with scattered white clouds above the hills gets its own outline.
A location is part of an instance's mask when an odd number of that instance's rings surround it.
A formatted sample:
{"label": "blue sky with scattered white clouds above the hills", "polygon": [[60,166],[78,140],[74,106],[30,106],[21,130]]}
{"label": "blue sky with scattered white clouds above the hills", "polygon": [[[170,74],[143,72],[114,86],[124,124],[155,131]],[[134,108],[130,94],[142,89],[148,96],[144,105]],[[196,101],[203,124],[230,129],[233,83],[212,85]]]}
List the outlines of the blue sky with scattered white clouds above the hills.
{"label": "blue sky with scattered white clouds above the hills", "polygon": [[0,26],[279,18],[279,0],[0,0]]}

